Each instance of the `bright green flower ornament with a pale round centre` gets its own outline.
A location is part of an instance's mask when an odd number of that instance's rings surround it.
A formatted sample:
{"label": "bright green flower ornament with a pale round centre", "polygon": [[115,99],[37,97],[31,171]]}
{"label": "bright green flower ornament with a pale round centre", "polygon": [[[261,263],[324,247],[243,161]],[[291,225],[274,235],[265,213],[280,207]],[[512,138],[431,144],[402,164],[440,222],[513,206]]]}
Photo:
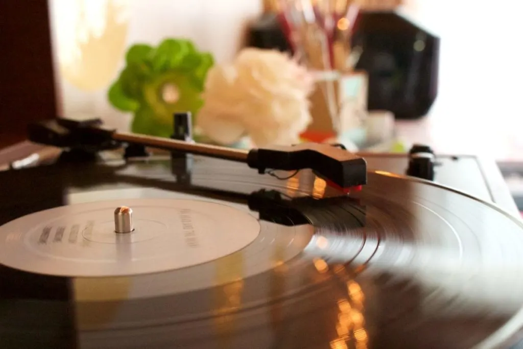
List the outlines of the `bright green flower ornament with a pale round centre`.
{"label": "bright green flower ornament with a pale round centre", "polygon": [[166,39],[156,48],[135,44],[109,88],[109,102],[133,112],[132,132],[169,137],[174,112],[196,115],[203,105],[201,93],[212,65],[212,55],[197,51],[188,40]]}

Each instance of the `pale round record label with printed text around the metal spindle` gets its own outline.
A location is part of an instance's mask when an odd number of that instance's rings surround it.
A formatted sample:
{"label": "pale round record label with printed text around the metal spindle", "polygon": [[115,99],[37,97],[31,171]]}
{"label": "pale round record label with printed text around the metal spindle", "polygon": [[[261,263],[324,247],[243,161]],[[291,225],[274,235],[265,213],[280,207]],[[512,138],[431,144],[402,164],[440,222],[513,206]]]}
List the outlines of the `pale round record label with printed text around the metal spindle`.
{"label": "pale round record label with printed text around the metal spindle", "polygon": [[[113,212],[133,210],[134,231],[116,233]],[[59,276],[169,271],[224,257],[260,226],[239,208],[209,201],[124,199],[58,207],[0,227],[0,263]]]}

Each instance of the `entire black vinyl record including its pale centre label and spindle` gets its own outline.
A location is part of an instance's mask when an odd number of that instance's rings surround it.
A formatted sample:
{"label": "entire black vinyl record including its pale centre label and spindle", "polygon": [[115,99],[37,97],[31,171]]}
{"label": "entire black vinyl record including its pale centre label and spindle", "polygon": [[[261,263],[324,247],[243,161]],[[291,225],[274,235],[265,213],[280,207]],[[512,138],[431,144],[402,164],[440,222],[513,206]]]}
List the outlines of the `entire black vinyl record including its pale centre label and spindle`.
{"label": "entire black vinyl record including its pale centre label and spindle", "polygon": [[523,324],[523,225],[434,182],[186,156],[0,186],[2,348],[495,348]]}

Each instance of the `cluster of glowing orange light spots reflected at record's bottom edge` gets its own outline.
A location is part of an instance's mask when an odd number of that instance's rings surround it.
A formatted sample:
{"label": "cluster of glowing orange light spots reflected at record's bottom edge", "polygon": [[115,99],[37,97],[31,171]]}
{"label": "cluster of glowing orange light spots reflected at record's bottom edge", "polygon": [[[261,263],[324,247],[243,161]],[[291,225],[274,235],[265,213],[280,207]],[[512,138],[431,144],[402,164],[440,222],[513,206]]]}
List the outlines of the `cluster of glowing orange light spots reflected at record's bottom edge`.
{"label": "cluster of glowing orange light spots reflected at record's bottom edge", "polygon": [[339,312],[336,323],[338,337],[331,341],[331,348],[348,348],[347,343],[354,342],[357,349],[367,349],[369,336],[364,328],[363,291],[358,283],[350,280],[347,282],[347,292],[348,299],[338,300]]}

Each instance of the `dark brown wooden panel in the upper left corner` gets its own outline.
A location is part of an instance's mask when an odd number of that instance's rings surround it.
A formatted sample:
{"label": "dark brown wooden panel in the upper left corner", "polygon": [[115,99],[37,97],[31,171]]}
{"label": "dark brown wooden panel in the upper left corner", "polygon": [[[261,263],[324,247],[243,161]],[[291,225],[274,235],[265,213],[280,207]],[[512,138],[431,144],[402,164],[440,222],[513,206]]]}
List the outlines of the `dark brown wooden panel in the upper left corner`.
{"label": "dark brown wooden panel in the upper left corner", "polygon": [[0,1],[0,148],[25,139],[30,121],[56,116],[49,6]]}

